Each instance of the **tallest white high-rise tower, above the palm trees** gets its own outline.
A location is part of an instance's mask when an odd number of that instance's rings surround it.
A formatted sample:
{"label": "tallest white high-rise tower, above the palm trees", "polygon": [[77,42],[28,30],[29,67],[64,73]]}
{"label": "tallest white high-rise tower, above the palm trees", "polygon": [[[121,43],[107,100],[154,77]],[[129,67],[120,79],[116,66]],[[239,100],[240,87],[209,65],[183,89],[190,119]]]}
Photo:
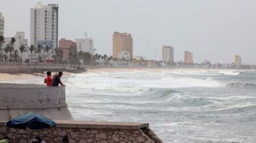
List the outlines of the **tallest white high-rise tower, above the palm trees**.
{"label": "tallest white high-rise tower, above the palm trees", "polygon": [[[35,47],[48,45],[51,48],[58,46],[58,19],[59,5],[42,5],[36,3],[30,10],[30,44]],[[52,52],[53,54],[53,49]]]}

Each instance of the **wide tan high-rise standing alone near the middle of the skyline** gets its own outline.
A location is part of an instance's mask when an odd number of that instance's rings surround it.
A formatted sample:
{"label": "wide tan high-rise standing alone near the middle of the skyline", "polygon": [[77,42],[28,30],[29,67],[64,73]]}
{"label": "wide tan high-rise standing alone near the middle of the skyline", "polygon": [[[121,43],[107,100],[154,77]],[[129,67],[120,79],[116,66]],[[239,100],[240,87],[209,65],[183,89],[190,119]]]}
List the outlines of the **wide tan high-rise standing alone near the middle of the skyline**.
{"label": "wide tan high-rise standing alone near the middle of the skyline", "polygon": [[130,59],[133,58],[133,37],[131,34],[114,32],[113,34],[113,58],[118,58],[118,53],[127,51]]}

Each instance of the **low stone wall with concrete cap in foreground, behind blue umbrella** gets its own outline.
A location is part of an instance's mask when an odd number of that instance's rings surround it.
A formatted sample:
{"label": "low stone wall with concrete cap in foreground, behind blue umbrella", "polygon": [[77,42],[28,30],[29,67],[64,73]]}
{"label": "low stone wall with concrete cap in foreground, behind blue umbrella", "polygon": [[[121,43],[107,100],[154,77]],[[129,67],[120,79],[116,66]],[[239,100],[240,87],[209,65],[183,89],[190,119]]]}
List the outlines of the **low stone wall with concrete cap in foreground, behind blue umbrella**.
{"label": "low stone wall with concrete cap in foreground, behind blue umbrella", "polygon": [[[56,120],[57,126],[49,129],[31,130],[31,137],[39,136],[47,143],[62,142],[68,136],[69,143],[117,142],[117,143],[162,143],[148,128],[148,123],[89,122],[81,120]],[[5,127],[0,122],[0,138],[9,136],[13,143],[25,143],[28,130]]]}

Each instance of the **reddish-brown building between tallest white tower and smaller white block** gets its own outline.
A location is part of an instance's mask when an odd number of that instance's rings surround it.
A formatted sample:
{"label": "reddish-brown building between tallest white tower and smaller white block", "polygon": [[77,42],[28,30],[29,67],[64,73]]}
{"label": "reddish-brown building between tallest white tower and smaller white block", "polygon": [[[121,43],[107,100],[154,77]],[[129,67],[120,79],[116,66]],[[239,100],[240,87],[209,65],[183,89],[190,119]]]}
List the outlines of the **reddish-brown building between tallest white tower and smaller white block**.
{"label": "reddish-brown building between tallest white tower and smaller white block", "polygon": [[59,49],[63,51],[63,58],[65,60],[71,58],[71,54],[76,50],[76,48],[76,42],[72,40],[65,40],[65,38],[61,38],[59,41]]}

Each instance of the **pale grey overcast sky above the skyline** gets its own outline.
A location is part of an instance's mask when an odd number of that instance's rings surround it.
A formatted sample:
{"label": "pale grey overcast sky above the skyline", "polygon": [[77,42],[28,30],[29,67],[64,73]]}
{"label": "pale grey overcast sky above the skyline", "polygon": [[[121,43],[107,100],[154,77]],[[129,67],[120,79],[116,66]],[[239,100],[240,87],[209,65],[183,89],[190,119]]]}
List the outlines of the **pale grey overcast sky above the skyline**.
{"label": "pale grey overcast sky above the skyline", "polygon": [[93,37],[98,54],[112,55],[115,31],[131,33],[133,55],[162,59],[162,46],[184,51],[195,63],[256,64],[255,0],[0,0],[5,37],[23,31],[30,41],[30,8],[36,2],[59,4],[59,39]]}

